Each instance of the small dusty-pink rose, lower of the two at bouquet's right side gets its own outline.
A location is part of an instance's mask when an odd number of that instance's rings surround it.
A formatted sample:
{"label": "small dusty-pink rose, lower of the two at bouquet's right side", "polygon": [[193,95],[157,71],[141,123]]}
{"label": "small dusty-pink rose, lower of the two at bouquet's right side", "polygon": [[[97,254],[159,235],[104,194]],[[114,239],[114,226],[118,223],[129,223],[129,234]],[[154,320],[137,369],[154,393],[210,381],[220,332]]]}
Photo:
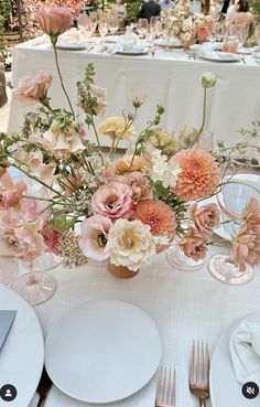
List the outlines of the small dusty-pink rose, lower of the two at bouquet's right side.
{"label": "small dusty-pink rose, lower of the two at bouquet's right side", "polygon": [[183,239],[178,243],[178,246],[187,257],[198,261],[206,256],[206,243],[207,240],[205,237],[199,235],[194,227],[191,227]]}

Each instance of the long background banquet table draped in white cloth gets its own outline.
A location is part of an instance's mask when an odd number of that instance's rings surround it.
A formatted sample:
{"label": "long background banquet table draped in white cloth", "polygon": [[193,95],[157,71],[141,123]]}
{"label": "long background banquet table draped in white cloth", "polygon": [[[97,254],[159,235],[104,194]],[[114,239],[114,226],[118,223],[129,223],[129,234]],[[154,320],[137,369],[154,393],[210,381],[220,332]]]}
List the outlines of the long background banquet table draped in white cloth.
{"label": "long background banquet table draped in white cloth", "polygon": [[[176,131],[183,125],[199,127],[202,120],[203,89],[199,77],[204,72],[217,76],[215,88],[208,92],[206,128],[227,144],[239,140],[237,129],[250,126],[259,119],[260,66],[251,55],[245,63],[216,63],[197,58],[192,61],[182,50],[165,52],[156,50],[143,56],[115,55],[109,52],[58,51],[65,86],[74,106],[77,104],[76,81],[80,79],[89,62],[96,69],[96,83],[108,88],[108,108],[105,117],[120,115],[131,108],[130,94],[149,96],[149,103],[141,107],[137,119],[140,130],[155,113],[156,105],[166,107],[162,126]],[[43,69],[54,76],[50,95],[53,107],[65,107],[66,100],[58,83],[52,47],[43,38],[35,39],[13,49],[13,84],[35,69]],[[17,131],[23,114],[32,107],[24,107],[12,100],[9,130]],[[106,144],[104,138],[102,143]]]}

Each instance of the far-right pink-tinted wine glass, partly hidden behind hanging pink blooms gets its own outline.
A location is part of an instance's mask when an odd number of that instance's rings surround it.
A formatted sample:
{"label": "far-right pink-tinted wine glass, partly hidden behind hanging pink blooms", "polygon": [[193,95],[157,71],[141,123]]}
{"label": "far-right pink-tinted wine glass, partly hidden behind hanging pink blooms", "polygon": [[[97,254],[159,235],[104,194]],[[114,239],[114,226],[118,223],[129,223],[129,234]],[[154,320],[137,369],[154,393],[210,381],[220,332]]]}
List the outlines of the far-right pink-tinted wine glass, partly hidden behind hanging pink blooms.
{"label": "far-right pink-tinted wine glass, partly hidden behind hanging pink blooms", "polygon": [[[228,178],[224,179],[228,182]],[[231,182],[225,185],[223,191],[217,195],[218,204],[223,211],[224,228],[230,237],[236,235],[238,229],[245,223],[243,213],[250,197],[259,200],[260,176],[240,174],[235,175]],[[236,199],[235,199],[236,197]],[[236,216],[236,222],[230,222],[230,218]],[[239,219],[240,217],[240,219]],[[213,256],[208,263],[208,270],[213,277],[221,282],[229,285],[245,285],[252,280],[254,270],[249,264],[246,264],[246,269],[241,271],[236,264],[232,264],[232,249],[230,254],[217,254]]]}

